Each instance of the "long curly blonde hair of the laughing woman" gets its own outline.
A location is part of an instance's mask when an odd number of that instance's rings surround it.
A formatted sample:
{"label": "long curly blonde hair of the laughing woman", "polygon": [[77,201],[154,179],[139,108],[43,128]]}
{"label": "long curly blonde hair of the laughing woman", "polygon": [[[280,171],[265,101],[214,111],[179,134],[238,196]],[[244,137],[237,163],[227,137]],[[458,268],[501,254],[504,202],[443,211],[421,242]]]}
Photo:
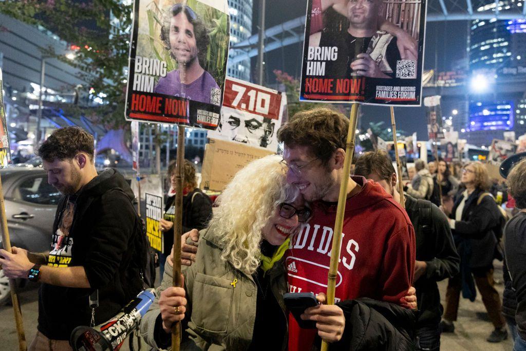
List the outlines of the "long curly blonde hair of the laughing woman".
{"label": "long curly blonde hair of the laughing woman", "polygon": [[281,157],[269,155],[241,169],[218,198],[210,227],[225,245],[221,258],[246,274],[260,264],[261,231],[280,203],[294,202],[299,190],[287,184]]}

